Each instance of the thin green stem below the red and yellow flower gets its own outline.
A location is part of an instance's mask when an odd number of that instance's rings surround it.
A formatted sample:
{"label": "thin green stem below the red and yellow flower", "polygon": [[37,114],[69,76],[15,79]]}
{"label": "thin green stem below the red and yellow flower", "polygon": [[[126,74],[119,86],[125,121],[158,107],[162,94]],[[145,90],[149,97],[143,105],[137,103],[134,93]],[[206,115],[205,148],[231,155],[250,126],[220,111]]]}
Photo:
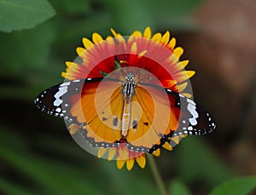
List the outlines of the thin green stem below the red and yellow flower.
{"label": "thin green stem below the red and yellow flower", "polygon": [[152,170],[152,173],[154,175],[154,180],[156,181],[157,186],[159,187],[161,194],[162,195],[167,195],[166,186],[164,184],[163,179],[161,178],[159,169],[157,168],[157,165],[154,161],[153,155],[151,155],[151,154],[148,155],[148,162],[149,162],[149,166]]}

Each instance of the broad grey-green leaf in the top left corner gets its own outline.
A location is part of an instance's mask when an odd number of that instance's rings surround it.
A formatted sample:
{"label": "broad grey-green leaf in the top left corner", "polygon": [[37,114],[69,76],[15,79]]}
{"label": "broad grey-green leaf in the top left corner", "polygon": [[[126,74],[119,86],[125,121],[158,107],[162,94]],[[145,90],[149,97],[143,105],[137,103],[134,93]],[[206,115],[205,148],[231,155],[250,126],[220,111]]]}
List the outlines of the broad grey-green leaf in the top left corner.
{"label": "broad grey-green leaf in the top left corner", "polygon": [[32,28],[53,15],[55,10],[46,0],[0,0],[0,31]]}

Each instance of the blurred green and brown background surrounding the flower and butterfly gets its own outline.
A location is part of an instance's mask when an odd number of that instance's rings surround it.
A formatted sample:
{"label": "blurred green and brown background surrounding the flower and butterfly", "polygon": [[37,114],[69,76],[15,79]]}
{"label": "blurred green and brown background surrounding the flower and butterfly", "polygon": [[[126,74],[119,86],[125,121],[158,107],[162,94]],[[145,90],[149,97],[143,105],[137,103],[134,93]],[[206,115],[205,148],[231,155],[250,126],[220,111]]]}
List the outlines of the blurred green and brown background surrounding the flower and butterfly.
{"label": "blurred green and brown background surrounding the flower and butterfly", "polygon": [[168,193],[256,194],[255,13],[239,0],[0,0],[0,193],[160,193],[148,165],[129,172],[97,159],[33,104],[63,81],[82,37],[150,26],[177,38],[195,100],[217,123],[156,158]]}

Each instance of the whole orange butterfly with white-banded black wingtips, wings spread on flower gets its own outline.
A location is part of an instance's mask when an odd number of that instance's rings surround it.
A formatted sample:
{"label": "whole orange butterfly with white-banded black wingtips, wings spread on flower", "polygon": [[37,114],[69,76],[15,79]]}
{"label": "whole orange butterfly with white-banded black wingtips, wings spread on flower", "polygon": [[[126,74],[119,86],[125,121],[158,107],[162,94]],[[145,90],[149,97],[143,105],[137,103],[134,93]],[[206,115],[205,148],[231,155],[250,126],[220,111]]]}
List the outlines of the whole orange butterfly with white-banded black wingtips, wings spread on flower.
{"label": "whole orange butterfly with white-banded black wingtips, wings spread on flower", "polygon": [[144,73],[127,70],[67,81],[34,101],[41,111],[64,118],[69,132],[93,147],[125,144],[131,151],[152,153],[166,142],[172,146],[172,137],[207,135],[216,128],[194,100],[156,82],[142,82]]}

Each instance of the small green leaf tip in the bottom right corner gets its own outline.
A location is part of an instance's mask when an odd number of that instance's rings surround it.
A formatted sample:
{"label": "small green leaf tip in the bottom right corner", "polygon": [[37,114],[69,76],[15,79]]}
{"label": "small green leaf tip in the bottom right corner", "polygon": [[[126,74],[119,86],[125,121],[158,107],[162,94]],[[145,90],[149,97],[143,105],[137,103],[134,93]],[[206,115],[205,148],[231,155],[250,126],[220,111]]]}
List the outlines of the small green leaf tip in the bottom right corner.
{"label": "small green leaf tip in the bottom right corner", "polygon": [[217,186],[209,195],[246,195],[256,188],[256,176],[238,177],[225,181]]}

